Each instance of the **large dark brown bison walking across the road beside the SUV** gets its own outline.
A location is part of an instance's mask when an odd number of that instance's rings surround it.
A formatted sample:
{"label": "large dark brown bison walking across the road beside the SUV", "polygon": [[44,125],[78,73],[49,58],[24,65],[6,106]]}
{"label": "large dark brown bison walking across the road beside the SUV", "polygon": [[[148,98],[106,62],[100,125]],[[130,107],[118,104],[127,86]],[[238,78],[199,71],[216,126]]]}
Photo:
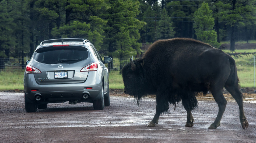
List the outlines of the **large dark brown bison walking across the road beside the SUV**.
{"label": "large dark brown bison walking across the road beside the SUV", "polygon": [[156,114],[147,126],[158,124],[159,116],[169,112],[169,104],[181,101],[187,111],[185,126],[192,127],[196,96],[210,90],[219,112],[209,129],[216,129],[227,104],[225,87],[239,106],[242,127],[248,127],[235,60],[222,50],[199,40],[174,38],[155,41],[142,58],[130,60],[121,70],[124,93],[134,96],[138,105],[143,97],[156,95]]}

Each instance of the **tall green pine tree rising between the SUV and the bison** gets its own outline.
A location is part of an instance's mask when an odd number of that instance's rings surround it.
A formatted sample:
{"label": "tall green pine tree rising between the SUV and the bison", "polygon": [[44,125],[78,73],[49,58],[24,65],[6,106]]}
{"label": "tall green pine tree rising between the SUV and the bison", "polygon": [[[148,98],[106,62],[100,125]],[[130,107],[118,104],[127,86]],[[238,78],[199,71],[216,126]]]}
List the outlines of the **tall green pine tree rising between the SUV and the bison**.
{"label": "tall green pine tree rising between the SUV and the bison", "polygon": [[[140,52],[139,29],[144,23],[136,19],[139,14],[139,2],[109,0],[107,4],[110,8],[104,14],[108,22],[104,27],[105,38],[103,41],[108,49],[108,55],[122,60],[122,58],[128,58],[130,55]],[[109,68],[112,68],[112,65],[109,65]]]}

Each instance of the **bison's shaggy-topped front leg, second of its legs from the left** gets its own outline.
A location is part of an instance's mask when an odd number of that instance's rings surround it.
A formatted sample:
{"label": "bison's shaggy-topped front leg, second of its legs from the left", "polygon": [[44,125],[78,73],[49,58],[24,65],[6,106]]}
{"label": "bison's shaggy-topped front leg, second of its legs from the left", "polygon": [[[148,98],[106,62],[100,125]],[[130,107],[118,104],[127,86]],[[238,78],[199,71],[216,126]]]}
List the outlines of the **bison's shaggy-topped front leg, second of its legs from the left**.
{"label": "bison's shaggy-topped front leg, second of its legs from the left", "polygon": [[187,96],[182,97],[182,105],[184,106],[185,110],[187,111],[187,122],[186,127],[193,127],[194,126],[194,118],[192,116],[191,111],[197,107],[197,99],[194,94],[189,94]]}

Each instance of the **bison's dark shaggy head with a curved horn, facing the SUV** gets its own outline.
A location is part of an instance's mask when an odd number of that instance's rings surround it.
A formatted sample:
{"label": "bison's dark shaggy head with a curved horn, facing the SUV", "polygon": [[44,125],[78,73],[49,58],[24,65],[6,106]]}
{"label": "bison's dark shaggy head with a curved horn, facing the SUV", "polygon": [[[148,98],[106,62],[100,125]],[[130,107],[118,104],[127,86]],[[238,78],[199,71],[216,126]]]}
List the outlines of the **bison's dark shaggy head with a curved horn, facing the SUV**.
{"label": "bison's dark shaggy head with a curved horn, facing the SUV", "polygon": [[122,69],[122,77],[124,83],[124,93],[133,95],[135,98],[147,95],[148,86],[145,78],[145,71],[143,70],[143,59],[132,60]]}

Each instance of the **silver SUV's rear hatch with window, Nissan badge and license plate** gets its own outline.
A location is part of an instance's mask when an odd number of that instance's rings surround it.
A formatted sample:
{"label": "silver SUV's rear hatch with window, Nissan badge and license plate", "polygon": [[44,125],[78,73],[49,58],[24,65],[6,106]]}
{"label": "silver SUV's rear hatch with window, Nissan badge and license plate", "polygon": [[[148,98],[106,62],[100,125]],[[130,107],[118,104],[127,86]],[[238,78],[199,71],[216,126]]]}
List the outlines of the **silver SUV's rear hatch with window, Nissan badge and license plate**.
{"label": "silver SUV's rear hatch with window, Nissan badge and license plate", "polygon": [[80,70],[92,63],[88,49],[83,46],[49,46],[35,51],[31,66],[38,84],[68,84],[85,82],[88,72]]}

